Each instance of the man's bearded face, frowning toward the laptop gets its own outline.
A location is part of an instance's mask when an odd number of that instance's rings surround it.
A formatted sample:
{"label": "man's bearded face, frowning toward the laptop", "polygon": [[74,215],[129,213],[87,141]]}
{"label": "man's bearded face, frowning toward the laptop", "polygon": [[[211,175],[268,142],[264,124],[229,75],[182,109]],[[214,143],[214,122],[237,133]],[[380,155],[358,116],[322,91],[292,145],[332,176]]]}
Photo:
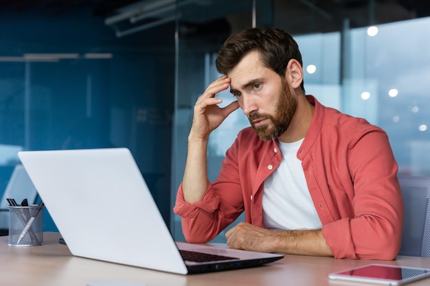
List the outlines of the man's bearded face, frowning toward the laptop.
{"label": "man's bearded face, frowning toward the laptop", "polygon": [[230,92],[237,97],[260,139],[277,139],[286,132],[297,102],[284,78],[264,67],[256,52],[245,56],[228,76]]}

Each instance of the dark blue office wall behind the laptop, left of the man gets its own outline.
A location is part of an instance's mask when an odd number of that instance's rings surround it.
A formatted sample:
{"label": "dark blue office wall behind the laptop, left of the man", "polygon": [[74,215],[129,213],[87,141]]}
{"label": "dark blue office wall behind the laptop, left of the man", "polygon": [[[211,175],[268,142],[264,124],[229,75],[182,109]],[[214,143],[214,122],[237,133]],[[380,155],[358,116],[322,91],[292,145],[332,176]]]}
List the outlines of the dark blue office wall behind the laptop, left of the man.
{"label": "dark blue office wall behind the laptop, left of the man", "polygon": [[128,147],[167,220],[173,74],[174,23],[117,38],[90,8],[0,11],[0,194],[16,150]]}

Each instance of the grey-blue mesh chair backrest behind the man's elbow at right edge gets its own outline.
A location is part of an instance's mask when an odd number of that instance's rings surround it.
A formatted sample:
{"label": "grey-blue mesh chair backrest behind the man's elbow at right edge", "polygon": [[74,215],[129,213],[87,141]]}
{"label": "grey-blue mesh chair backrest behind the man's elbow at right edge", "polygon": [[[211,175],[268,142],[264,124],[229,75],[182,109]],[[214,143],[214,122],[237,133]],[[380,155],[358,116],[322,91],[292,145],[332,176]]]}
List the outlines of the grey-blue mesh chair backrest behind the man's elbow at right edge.
{"label": "grey-blue mesh chair backrest behind the man's elbow at right edge", "polygon": [[399,176],[405,204],[399,255],[430,257],[430,177]]}

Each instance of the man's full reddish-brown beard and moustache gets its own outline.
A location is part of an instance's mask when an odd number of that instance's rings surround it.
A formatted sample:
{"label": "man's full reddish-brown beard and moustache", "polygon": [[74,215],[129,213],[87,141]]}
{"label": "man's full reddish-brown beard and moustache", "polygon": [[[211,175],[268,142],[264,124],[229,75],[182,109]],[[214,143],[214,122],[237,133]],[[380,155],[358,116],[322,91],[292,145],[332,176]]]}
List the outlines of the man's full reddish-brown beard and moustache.
{"label": "man's full reddish-brown beard and moustache", "polygon": [[[284,132],[290,126],[291,120],[297,108],[297,101],[291,95],[288,89],[288,84],[282,80],[282,92],[276,102],[276,110],[274,115],[269,114],[258,114],[257,112],[249,115],[248,119],[251,126],[256,130],[258,136],[263,141],[269,141],[273,139],[278,139],[279,136],[284,134]],[[252,121],[256,119],[267,119],[267,123],[263,126],[254,126]],[[271,122],[271,124],[270,124]]]}

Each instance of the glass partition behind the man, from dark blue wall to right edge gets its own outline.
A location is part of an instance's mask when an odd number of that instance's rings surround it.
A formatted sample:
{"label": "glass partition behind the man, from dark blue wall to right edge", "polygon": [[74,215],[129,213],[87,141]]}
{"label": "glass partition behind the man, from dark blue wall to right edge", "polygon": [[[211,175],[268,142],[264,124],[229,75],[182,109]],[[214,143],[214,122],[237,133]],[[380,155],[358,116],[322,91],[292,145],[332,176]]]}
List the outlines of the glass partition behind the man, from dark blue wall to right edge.
{"label": "glass partition behind the man, from dark blue wall to right edge", "polygon": [[[275,8],[273,14],[279,16],[280,11]],[[252,27],[251,15],[252,5],[240,16],[226,14],[225,19],[230,25],[226,34]],[[315,14],[308,13],[309,19],[313,16],[316,18]],[[363,18],[367,16],[367,13],[363,14]],[[236,21],[239,18],[241,21]],[[274,23],[287,31],[291,28],[276,18]],[[363,23],[370,22],[366,19]],[[427,80],[430,78],[430,44],[426,36],[430,32],[430,18],[383,23],[376,25],[376,29],[369,27],[366,24],[357,26],[357,23],[344,19],[330,32],[293,34],[304,60],[306,93],[315,95],[326,106],[364,117],[386,130],[400,174],[430,176],[427,163],[427,150],[430,150],[430,81]],[[315,27],[315,31],[318,30]],[[172,205],[183,176],[194,102],[219,76],[214,60],[221,38],[210,45],[200,38],[200,43],[206,45],[193,46],[181,34],[177,39],[179,78],[174,117]],[[199,40],[194,38],[193,43],[199,43]],[[223,98],[223,105],[233,100],[227,91],[218,97]],[[239,109],[212,132],[207,150],[210,180],[218,175],[225,151],[238,131],[247,126],[249,122]],[[175,215],[172,230],[177,239],[183,238],[180,219]],[[225,242],[224,233],[214,241]]]}

